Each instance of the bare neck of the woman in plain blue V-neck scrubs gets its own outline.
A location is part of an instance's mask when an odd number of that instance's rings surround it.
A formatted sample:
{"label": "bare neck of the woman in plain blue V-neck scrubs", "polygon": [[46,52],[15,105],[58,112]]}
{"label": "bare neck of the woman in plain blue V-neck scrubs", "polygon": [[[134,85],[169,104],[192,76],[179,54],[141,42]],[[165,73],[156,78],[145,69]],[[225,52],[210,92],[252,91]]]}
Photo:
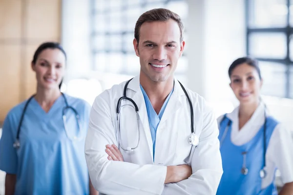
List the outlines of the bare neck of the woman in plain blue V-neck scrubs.
{"label": "bare neck of the woman in plain blue V-neck scrubs", "polygon": [[35,99],[41,106],[51,106],[60,95],[61,92],[59,89],[48,90],[38,86]]}

